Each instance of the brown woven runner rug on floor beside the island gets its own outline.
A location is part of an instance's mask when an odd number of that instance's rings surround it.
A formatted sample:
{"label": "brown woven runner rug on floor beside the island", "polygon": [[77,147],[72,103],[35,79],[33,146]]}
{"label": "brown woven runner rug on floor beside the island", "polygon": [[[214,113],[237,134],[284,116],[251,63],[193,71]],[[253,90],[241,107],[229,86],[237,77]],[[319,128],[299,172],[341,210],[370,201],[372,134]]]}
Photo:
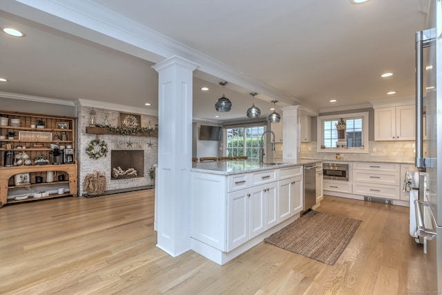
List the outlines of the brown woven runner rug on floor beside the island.
{"label": "brown woven runner rug on floor beside the island", "polygon": [[334,265],[362,221],[310,211],[264,241],[328,265]]}

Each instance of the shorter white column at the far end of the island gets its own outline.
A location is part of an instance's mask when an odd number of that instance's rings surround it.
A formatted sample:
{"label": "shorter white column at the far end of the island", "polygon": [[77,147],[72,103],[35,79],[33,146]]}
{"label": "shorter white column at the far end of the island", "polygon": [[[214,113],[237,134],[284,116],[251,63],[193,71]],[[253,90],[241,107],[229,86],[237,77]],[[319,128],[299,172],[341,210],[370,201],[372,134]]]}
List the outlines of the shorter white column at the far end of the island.
{"label": "shorter white column at the far end of the island", "polygon": [[300,114],[299,105],[282,108],[282,160],[300,159]]}

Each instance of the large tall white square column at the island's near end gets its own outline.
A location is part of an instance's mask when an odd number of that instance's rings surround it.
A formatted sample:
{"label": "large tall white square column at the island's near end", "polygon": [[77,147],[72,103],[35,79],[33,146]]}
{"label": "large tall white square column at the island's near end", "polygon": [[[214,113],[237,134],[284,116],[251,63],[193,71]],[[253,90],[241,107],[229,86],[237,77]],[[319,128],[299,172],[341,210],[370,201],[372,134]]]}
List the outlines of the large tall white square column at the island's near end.
{"label": "large tall white square column at the island's near end", "polygon": [[178,57],[157,63],[157,247],[178,256],[191,248],[192,85],[195,65]]}

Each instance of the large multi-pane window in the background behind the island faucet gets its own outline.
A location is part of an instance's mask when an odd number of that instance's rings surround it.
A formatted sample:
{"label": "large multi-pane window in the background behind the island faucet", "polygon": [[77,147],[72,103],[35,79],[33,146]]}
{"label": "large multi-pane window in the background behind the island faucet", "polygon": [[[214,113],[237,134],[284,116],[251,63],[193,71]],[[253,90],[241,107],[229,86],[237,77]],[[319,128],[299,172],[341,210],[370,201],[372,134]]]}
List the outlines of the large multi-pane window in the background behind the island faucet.
{"label": "large multi-pane window in the background behind the island faucet", "polygon": [[264,131],[264,126],[227,128],[226,156],[260,159],[260,140]]}

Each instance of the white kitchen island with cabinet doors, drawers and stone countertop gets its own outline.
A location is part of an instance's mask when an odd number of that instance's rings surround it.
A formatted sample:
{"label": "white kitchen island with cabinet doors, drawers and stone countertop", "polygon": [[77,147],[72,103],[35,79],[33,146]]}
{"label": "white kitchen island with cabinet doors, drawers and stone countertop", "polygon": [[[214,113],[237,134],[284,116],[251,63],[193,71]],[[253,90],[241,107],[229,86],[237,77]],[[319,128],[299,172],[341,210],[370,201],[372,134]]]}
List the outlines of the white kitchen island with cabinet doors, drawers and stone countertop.
{"label": "white kitchen island with cabinet doors, drawers and stone countertop", "polygon": [[304,210],[303,165],[219,161],[191,169],[191,248],[223,265]]}

